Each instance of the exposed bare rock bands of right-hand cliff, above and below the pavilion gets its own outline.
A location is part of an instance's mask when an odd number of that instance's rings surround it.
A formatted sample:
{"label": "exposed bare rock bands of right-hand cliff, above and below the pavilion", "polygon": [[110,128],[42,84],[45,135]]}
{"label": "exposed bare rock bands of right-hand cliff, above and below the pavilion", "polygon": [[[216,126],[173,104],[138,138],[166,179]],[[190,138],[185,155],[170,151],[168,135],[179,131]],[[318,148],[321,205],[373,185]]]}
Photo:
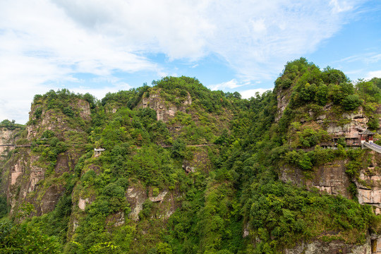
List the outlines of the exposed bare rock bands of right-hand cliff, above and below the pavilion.
{"label": "exposed bare rock bands of right-hand cliff, above and below the pavilion", "polygon": [[[279,90],[277,92],[278,107],[276,121],[282,118],[284,111],[289,107],[289,90]],[[360,145],[359,133],[368,128],[369,121],[363,107],[358,107],[353,111],[341,111],[339,114],[340,110],[338,111],[335,107],[337,106],[332,105],[332,103],[326,104],[317,114],[309,110],[306,112],[307,114],[304,114],[304,117],[300,119],[296,118],[294,121],[299,121],[301,126],[306,126],[307,128],[325,130],[332,138],[346,138],[346,140],[351,140],[351,144]],[[380,109],[381,107],[378,107],[375,116],[379,114]],[[381,119],[378,121],[381,122]],[[331,149],[336,149],[336,147],[331,147]],[[362,149],[362,147],[355,147],[355,149]],[[333,162],[314,167],[312,171],[302,170],[284,163],[280,165],[279,178],[285,183],[306,186],[310,190],[317,188],[321,193],[342,195],[349,199],[355,198],[353,193],[356,192],[356,198],[360,204],[371,205],[375,214],[381,214],[381,154],[372,150],[365,150],[362,161],[362,167],[358,170],[358,176],[356,177],[350,177],[346,173],[349,159],[337,158]],[[356,190],[353,190],[353,186]],[[368,235],[367,239],[367,243],[363,246],[351,246],[340,241],[303,242],[295,248],[285,250],[284,253],[380,254],[381,236]]]}

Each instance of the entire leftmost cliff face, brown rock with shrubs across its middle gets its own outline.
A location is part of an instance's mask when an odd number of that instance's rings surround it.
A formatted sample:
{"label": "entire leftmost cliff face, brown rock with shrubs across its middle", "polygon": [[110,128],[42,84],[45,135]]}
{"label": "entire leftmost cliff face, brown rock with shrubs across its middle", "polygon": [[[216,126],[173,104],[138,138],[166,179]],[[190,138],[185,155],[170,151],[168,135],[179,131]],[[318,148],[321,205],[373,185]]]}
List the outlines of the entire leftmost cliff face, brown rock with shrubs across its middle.
{"label": "entire leftmost cliff face, brown rock with shrubs across its middle", "polygon": [[87,143],[88,102],[71,98],[64,105],[65,114],[59,107],[49,108],[48,99],[32,104],[27,131],[18,139],[18,144],[25,147],[16,147],[4,165],[7,181],[2,185],[7,189],[11,214],[25,202],[35,207],[32,214],[54,210],[66,189],[66,174],[73,171],[83,153],[82,145]]}

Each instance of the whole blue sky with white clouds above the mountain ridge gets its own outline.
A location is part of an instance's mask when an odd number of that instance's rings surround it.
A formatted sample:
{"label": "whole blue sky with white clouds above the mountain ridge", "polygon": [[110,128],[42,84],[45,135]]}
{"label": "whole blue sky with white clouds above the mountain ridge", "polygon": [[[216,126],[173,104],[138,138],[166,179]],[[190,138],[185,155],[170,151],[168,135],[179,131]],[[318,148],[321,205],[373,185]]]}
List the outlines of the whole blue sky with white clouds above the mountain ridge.
{"label": "whole blue sky with white clouds above the mountain ridge", "polygon": [[365,0],[1,0],[0,119],[25,123],[50,89],[102,99],[166,75],[250,97],[301,56],[381,77],[380,13]]}

